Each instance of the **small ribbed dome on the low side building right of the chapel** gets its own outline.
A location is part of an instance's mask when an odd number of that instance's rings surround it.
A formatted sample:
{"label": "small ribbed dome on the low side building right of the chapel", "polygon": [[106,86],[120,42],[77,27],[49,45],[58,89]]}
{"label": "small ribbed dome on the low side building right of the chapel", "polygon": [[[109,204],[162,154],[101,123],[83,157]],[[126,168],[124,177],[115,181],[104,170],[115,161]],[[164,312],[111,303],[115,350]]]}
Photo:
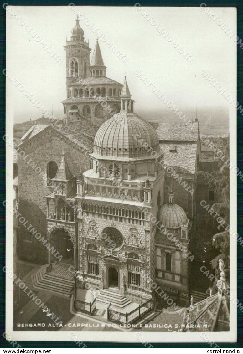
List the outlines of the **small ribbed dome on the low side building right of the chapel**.
{"label": "small ribbed dome on the low side building right of the chapel", "polygon": [[179,228],[187,223],[187,216],[180,205],[168,203],[163,205],[158,212],[158,220],[168,228]]}

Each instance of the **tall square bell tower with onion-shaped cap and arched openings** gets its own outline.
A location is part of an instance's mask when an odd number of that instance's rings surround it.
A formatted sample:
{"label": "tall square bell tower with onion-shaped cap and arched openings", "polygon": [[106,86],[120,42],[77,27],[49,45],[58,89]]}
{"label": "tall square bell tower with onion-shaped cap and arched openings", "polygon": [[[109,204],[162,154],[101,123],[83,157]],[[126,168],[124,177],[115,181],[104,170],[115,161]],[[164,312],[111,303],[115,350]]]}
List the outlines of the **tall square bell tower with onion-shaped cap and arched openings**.
{"label": "tall square bell tower with onion-shaped cap and arched openings", "polygon": [[73,96],[72,85],[78,78],[89,76],[90,52],[89,41],[84,39],[84,31],[79,25],[77,16],[76,24],[72,29],[71,40],[66,39],[66,69],[67,69],[67,98]]}

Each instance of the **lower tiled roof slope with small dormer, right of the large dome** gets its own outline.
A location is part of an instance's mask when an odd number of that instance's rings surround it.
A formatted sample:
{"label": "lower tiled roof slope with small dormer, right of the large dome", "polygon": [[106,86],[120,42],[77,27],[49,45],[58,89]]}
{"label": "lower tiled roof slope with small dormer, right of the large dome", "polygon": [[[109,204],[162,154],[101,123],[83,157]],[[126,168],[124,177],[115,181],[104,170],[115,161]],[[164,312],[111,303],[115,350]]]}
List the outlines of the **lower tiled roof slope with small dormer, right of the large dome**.
{"label": "lower tiled roof slope with small dormer, right of the large dome", "polygon": [[170,147],[174,145],[160,144],[164,161],[174,171],[180,172],[181,177],[190,177],[196,172],[197,144],[176,144],[176,152],[170,152]]}

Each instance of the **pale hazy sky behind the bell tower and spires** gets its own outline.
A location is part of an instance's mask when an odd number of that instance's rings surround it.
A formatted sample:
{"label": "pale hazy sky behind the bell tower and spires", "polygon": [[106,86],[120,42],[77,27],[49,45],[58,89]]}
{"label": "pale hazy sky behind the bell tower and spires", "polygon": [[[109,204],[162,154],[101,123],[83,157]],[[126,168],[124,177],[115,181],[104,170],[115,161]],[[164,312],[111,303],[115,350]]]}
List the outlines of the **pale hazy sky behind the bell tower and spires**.
{"label": "pale hazy sky behind the bell tower and spires", "polygon": [[[134,7],[79,6],[79,10],[98,28],[128,63],[125,64],[101,40],[100,47],[107,76],[123,83],[126,72],[135,111],[164,111],[165,104],[135,74],[140,70],[180,109],[197,107],[227,107],[224,97],[200,74],[209,72],[223,88],[233,94],[235,88],[236,42],[200,7],[148,7],[147,11],[166,32],[180,43],[194,59],[191,65]],[[28,28],[33,28],[41,40],[62,58],[55,61],[50,54],[24,30],[19,20],[6,12],[6,68],[48,109],[62,117],[61,101],[66,98],[66,58],[63,46],[70,39],[76,15],[68,6],[12,7]],[[214,13],[236,33],[236,10],[212,8]],[[92,48],[96,35],[80,20],[85,40]],[[23,23],[23,22],[22,22]],[[42,113],[24,97],[12,83],[7,85],[7,97],[15,121],[39,118]]]}

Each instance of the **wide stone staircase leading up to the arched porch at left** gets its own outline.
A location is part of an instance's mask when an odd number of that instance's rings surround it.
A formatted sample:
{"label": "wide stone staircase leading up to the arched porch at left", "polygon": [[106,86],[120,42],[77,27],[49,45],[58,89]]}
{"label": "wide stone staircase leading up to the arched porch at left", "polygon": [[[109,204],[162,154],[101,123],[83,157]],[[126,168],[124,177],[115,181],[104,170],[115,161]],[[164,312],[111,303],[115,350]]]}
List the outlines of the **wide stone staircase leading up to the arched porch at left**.
{"label": "wide stone staircase leading up to the arched porch at left", "polygon": [[64,278],[61,275],[46,273],[47,265],[41,267],[38,272],[31,276],[33,287],[44,289],[69,297],[73,293],[74,280]]}

